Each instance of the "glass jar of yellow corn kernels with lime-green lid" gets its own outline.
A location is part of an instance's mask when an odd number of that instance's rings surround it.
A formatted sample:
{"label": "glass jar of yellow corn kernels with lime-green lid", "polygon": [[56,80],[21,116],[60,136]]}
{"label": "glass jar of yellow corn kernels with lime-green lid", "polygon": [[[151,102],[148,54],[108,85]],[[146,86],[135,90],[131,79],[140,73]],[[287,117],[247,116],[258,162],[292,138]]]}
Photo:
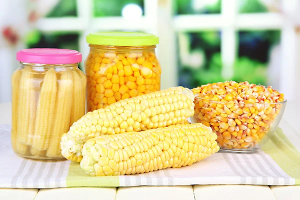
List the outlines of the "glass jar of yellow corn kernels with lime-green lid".
{"label": "glass jar of yellow corn kernels with lime-green lid", "polygon": [[141,32],[96,32],[86,36],[87,111],[160,90],[158,37]]}

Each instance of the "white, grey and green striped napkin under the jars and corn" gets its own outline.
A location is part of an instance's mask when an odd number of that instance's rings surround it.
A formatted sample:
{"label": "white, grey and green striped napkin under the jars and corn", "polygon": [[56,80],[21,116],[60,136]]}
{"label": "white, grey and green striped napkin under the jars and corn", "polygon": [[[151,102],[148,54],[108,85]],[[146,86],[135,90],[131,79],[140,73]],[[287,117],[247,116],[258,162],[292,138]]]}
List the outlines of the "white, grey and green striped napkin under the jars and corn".
{"label": "white, grey and green striped napkin under the jars and corn", "polygon": [[181,168],[149,173],[89,177],[78,163],[18,157],[10,145],[10,126],[0,125],[0,187],[54,188],[191,184],[300,184],[300,135],[283,119],[257,153],[214,153]]}

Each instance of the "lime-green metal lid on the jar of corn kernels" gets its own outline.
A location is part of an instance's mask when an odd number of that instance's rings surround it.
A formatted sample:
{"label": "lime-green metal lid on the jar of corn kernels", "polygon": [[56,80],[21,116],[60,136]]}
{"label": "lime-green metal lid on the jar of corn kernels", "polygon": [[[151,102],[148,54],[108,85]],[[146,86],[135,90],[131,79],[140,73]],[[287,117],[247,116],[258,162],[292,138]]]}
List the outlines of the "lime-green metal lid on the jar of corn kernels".
{"label": "lime-green metal lid on the jar of corn kernels", "polygon": [[95,32],[86,35],[86,42],[112,46],[148,46],[159,43],[156,35],[144,32]]}

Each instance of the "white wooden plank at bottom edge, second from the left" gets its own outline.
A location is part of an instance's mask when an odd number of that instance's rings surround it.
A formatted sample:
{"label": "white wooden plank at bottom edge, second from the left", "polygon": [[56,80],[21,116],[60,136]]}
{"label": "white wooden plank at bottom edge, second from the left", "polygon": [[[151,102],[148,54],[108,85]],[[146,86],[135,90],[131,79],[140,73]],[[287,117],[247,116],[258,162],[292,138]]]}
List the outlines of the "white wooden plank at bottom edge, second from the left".
{"label": "white wooden plank at bottom edge, second from the left", "polygon": [[40,189],[34,200],[114,200],[115,191],[115,187],[65,187]]}

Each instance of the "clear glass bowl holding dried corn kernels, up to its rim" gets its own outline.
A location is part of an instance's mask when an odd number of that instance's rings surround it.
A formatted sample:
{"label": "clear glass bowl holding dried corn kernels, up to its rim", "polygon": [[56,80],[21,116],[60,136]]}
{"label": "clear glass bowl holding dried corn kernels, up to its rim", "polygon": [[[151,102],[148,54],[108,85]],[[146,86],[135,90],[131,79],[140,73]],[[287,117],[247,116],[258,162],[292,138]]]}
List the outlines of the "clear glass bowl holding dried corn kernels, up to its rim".
{"label": "clear glass bowl holding dried corn kernels, up to its rim", "polygon": [[234,103],[195,96],[192,123],[210,126],[220,152],[253,153],[276,130],[286,99],[275,103]]}

